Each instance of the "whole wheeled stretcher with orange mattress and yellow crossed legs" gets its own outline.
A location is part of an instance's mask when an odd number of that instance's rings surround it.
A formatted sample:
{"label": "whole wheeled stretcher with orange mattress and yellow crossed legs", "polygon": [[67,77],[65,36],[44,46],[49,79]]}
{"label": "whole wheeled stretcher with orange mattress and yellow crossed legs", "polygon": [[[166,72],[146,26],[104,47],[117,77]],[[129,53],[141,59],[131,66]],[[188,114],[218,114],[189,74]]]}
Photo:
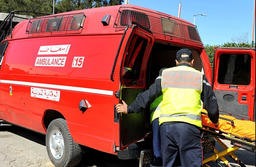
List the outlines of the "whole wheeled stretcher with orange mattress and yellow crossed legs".
{"label": "whole wheeled stretcher with orange mattress and yellow crossed legs", "polygon": [[[249,117],[245,117],[246,120],[236,119],[232,116],[232,113],[220,110],[219,126],[215,127],[208,118],[206,110],[202,111],[201,116],[203,125],[202,131],[204,134],[213,136],[213,138],[224,148],[223,151],[219,152],[215,145],[208,141],[204,135],[202,139],[207,147],[212,149],[213,155],[204,159],[203,166],[210,167],[207,163],[213,161],[222,167],[232,167],[231,162],[224,157],[225,155],[228,155],[234,160],[234,163],[239,164],[241,167],[246,167],[233,152],[242,148],[255,153],[255,122],[251,121]],[[230,144],[233,146],[229,148],[221,139],[230,140]],[[220,163],[220,161],[223,161],[224,164]]]}

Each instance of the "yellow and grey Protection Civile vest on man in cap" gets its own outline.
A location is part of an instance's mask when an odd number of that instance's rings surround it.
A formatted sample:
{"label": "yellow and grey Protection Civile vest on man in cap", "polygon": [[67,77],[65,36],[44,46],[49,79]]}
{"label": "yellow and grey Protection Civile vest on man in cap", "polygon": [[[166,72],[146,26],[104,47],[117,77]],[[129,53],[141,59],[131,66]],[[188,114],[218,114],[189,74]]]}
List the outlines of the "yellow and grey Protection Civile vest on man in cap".
{"label": "yellow and grey Protection Civile vest on man in cap", "polygon": [[181,121],[202,127],[203,74],[188,66],[176,66],[163,70],[161,82],[163,101],[159,124]]}

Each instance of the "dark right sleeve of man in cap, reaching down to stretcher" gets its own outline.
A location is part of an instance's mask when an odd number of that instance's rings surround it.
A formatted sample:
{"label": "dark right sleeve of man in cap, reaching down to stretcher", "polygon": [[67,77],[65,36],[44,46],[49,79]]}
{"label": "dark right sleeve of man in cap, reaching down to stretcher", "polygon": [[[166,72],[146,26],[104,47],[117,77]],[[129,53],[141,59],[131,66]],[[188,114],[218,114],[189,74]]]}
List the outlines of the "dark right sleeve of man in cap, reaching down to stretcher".
{"label": "dark right sleeve of man in cap, reaching down to stretcher", "polygon": [[209,119],[216,124],[219,119],[219,107],[213,89],[204,75],[201,100],[204,102],[204,109],[207,110]]}

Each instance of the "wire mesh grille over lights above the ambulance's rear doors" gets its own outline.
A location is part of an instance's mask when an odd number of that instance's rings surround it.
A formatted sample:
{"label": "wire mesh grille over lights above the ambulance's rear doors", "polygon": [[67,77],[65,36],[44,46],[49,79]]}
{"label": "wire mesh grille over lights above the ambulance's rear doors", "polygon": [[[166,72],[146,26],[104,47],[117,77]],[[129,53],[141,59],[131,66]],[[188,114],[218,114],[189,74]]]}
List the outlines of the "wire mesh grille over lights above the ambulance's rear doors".
{"label": "wire mesh grille over lights above the ambulance's rear doors", "polygon": [[124,30],[132,21],[150,30],[156,38],[203,46],[195,25],[167,16],[165,13],[120,7],[114,28],[116,31]]}

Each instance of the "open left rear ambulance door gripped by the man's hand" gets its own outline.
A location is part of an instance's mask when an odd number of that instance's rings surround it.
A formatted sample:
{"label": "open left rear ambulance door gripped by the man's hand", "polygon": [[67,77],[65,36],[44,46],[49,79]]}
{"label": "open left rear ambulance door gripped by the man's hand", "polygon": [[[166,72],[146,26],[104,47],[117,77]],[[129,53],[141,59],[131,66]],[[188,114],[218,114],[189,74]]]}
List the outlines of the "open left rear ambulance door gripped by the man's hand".
{"label": "open left rear ambulance door gripped by the man's hand", "polygon": [[[122,57],[120,73],[120,99],[130,105],[139,92],[146,90],[146,69],[149,53],[155,37],[152,33],[132,22],[126,29],[119,51]],[[120,115],[120,147],[134,143],[145,136],[146,113]]]}

